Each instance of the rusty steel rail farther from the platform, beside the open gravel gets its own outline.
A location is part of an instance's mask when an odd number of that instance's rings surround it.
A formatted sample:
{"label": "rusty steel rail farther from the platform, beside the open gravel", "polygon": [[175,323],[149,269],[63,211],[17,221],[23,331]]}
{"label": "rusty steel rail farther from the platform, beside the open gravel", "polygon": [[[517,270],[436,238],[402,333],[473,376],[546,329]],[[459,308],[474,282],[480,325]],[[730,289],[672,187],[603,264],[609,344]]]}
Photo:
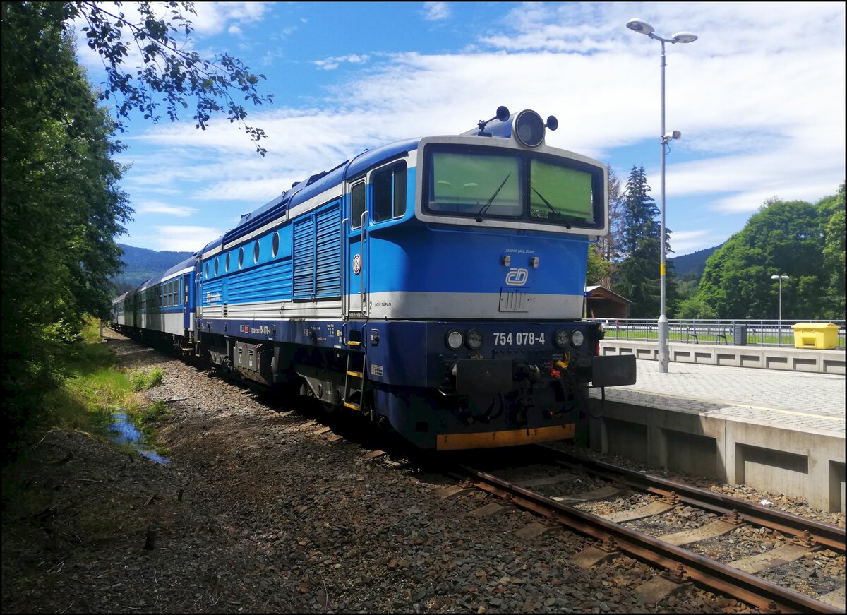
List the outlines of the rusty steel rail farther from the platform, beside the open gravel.
{"label": "rusty steel rail farther from the platform, beside the open gravel", "polygon": [[[480,490],[495,496],[511,499],[512,504],[526,508],[541,516],[556,520],[581,534],[596,540],[614,536],[621,551],[651,564],[681,574],[682,578],[696,581],[724,594],[763,609],[774,605],[782,612],[843,612],[809,596],[802,596],[763,579],[715,562],[681,547],[671,545],[653,536],[642,534],[607,519],[585,513],[578,508],[562,504],[534,491],[513,485],[480,470],[460,466],[464,472],[479,482],[473,483]],[[508,498],[511,496],[511,498]],[[685,579],[685,580],[688,580]],[[773,604],[772,604],[773,603]]]}

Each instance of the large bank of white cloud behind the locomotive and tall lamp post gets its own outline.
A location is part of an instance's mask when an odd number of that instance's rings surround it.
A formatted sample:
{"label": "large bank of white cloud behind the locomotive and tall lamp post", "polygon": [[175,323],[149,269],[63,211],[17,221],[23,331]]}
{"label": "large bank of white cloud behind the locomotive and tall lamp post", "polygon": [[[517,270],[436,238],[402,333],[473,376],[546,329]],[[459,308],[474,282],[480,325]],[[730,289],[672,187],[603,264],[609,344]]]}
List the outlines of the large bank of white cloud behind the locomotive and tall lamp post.
{"label": "large bank of white cloud behind the locomotive and tall lamp post", "polygon": [[[815,201],[836,191],[845,164],[843,3],[523,4],[491,19],[477,51],[381,54],[383,64],[336,81],[323,100],[252,111],[251,125],[269,136],[265,158],[223,119],[207,131],[191,122],[148,128],[137,141],[157,153],[134,158],[125,182],[163,202],[181,194],[180,203],[229,201],[245,213],[365,147],[457,134],[505,104],[555,114],[560,128],[548,143],[600,160],[655,143],[636,163],[648,168],[658,201],[660,47],[625,27],[631,17],[665,36],[700,36],[667,45],[667,130],[683,133],[667,156],[667,194],[690,197],[700,220],[669,222],[676,253],[732,232],[702,220],[753,213],[772,196]],[[371,57],[314,64],[330,70]],[[625,181],[628,168],[616,170]],[[232,213],[212,219],[230,224]]]}

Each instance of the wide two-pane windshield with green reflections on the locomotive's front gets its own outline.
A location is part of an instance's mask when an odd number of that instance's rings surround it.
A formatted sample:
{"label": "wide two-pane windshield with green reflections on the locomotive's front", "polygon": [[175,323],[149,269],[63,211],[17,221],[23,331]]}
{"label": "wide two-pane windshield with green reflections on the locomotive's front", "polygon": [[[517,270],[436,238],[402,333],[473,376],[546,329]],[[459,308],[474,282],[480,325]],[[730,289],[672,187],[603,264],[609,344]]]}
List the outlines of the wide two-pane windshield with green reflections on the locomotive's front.
{"label": "wide two-pane windshield with green reflections on the locomotive's front", "polygon": [[594,226],[597,178],[534,152],[436,149],[427,157],[431,213],[542,224]]}

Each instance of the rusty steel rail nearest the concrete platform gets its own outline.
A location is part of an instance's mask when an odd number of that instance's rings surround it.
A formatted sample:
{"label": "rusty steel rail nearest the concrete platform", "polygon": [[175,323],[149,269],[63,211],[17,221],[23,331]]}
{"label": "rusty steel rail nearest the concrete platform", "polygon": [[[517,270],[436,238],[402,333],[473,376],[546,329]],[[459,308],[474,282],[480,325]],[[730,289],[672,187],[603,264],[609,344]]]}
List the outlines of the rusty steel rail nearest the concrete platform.
{"label": "rusty steel rail nearest the concrete platform", "polygon": [[[739,500],[732,496],[723,496],[709,490],[700,489],[678,483],[673,480],[662,479],[651,474],[641,474],[627,468],[618,468],[611,463],[604,463],[590,459],[575,457],[567,452],[552,446],[538,445],[547,451],[556,453],[559,457],[567,457],[572,460],[565,465],[579,467],[589,474],[595,474],[603,479],[628,483],[638,489],[649,491],[660,496],[668,496],[672,491],[677,494],[680,501],[689,506],[699,507],[715,513],[730,515],[738,511],[739,516],[749,524],[763,525],[770,529],[803,538],[805,532],[809,532],[811,540],[819,545],[827,546],[836,551],[844,551],[844,528],[837,525],[815,521],[785,513],[774,508],[764,507],[753,502]],[[560,460],[560,463],[561,460]]]}

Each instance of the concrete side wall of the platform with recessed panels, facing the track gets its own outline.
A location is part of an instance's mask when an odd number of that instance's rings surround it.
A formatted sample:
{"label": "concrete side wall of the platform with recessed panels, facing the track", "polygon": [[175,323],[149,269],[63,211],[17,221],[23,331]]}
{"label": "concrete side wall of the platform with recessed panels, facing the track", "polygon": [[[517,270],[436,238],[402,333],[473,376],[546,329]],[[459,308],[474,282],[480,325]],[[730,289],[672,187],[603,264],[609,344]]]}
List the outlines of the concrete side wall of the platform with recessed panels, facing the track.
{"label": "concrete side wall of the platform with recessed panels, facing the track", "polygon": [[602,408],[600,400],[590,403],[595,450],[844,512],[844,433],[609,399]]}

